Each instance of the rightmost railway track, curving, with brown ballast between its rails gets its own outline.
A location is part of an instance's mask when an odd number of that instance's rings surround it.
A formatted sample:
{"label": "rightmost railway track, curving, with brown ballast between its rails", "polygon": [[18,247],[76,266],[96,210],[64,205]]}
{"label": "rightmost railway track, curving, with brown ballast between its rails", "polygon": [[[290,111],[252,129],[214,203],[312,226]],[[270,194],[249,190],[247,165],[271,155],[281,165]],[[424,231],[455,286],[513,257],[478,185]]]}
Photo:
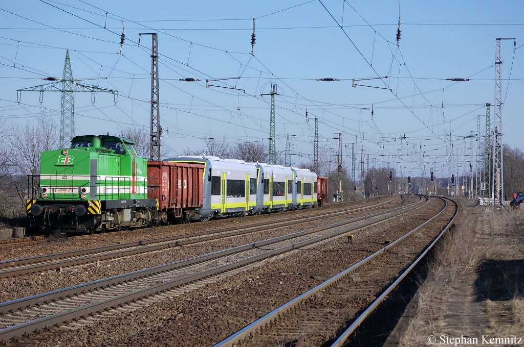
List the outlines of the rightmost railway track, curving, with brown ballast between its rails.
{"label": "rightmost railway track, curving, with brown ballast between its rails", "polygon": [[[453,223],[459,206],[440,199],[444,207],[428,221],[215,346],[344,345]],[[443,222],[436,237],[424,231]],[[384,283],[390,284],[383,288]]]}

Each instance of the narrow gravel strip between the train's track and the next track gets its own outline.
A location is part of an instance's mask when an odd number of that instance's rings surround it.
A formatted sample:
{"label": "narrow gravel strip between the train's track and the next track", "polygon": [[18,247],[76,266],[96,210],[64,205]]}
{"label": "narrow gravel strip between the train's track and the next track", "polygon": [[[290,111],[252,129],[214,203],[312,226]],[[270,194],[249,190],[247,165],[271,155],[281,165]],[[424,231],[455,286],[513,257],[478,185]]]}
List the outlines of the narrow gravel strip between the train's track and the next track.
{"label": "narrow gravel strip between the train's track and the next track", "polygon": [[216,219],[209,222],[198,222],[191,224],[182,225],[169,225],[155,228],[145,228],[134,230],[130,233],[105,233],[86,235],[82,238],[66,238],[66,237],[52,237],[49,244],[37,244],[21,247],[12,248],[0,248],[0,261],[19,259],[26,257],[35,257],[40,255],[47,255],[52,253],[59,253],[83,248],[93,248],[100,246],[107,246],[113,244],[121,244],[123,242],[146,240],[150,238],[179,235],[185,233],[198,232],[202,230],[211,230],[216,228],[225,228],[231,226],[240,226],[245,224],[260,223],[265,221],[274,221],[275,219],[289,218],[296,216],[300,218],[302,216],[308,216],[316,213],[329,213],[341,209],[347,209],[352,207],[361,207],[367,204],[377,204],[386,200],[390,200],[391,196],[381,196],[378,198],[367,199],[365,201],[353,201],[343,204],[326,204],[320,209],[305,209],[297,211],[289,211],[284,213],[270,213],[263,215],[247,216],[247,217],[236,217],[236,218],[224,218]]}

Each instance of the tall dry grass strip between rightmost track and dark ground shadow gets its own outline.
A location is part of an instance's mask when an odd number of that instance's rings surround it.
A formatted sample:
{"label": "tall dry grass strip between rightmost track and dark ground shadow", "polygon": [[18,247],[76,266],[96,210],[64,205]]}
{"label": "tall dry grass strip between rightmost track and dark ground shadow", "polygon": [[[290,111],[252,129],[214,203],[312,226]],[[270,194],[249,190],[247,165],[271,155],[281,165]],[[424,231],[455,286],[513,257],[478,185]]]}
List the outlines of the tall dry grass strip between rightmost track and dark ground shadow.
{"label": "tall dry grass strip between rightmost track and dark ground shadow", "polygon": [[478,266],[496,253],[494,242],[479,236],[487,230],[496,230],[505,219],[486,212],[480,216],[463,214],[455,223],[456,228],[436,246],[435,259],[428,265],[427,280],[419,288],[416,313],[400,337],[402,346],[428,344],[430,335],[453,336],[453,331],[444,328],[446,315],[453,309],[450,304],[453,298],[449,294],[461,288],[466,279],[474,279]]}

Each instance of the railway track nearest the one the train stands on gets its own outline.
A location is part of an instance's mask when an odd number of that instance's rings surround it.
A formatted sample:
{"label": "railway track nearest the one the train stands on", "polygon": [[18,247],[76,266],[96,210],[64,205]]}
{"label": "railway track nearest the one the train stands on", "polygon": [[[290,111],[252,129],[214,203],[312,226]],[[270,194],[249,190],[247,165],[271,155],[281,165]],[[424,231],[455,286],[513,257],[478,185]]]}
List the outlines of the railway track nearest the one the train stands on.
{"label": "railway track nearest the one the train stands on", "polygon": [[280,228],[290,225],[308,223],[316,221],[319,218],[326,219],[339,217],[346,214],[352,214],[364,210],[383,207],[396,200],[397,199],[391,199],[372,206],[345,209],[343,211],[336,211],[332,213],[314,214],[313,216],[304,216],[300,219],[297,219],[296,217],[281,218],[277,219],[276,221],[248,224],[241,227],[233,226],[205,230],[202,232],[194,232],[188,234],[158,237],[148,240],[125,242],[123,244],[114,244],[95,248],[61,252],[52,255],[6,260],[0,262],[0,278],[34,273],[39,271],[46,271],[51,269],[66,268],[74,265],[91,263],[100,260],[139,255],[146,252],[154,252],[171,247],[181,247],[185,245],[195,244],[197,242],[204,242],[247,233],[254,233],[260,230],[268,230],[272,228]]}

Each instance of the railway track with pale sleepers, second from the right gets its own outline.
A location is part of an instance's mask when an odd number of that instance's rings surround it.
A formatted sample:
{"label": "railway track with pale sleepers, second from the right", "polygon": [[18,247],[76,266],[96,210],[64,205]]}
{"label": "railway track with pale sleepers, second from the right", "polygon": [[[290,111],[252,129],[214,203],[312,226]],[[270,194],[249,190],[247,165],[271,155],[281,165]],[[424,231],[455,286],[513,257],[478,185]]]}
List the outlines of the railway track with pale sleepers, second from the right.
{"label": "railway track with pale sleepers, second from the right", "polygon": [[[303,230],[253,244],[2,303],[0,304],[0,340],[7,341],[46,326],[78,319],[111,307],[117,307],[117,309],[92,315],[81,320],[80,323],[71,323],[71,325],[74,328],[103,319],[105,315],[134,310],[157,300],[179,295],[177,293],[193,290],[196,287],[220,281],[227,276],[275,261],[302,247],[326,242],[351,230],[409,213],[429,201],[424,200],[353,219],[353,222],[364,221],[358,225],[348,227],[342,223],[335,223],[330,226],[331,229],[317,227]],[[138,303],[136,300],[139,300]],[[130,302],[133,303],[129,304]],[[120,307],[121,305],[125,306]]]}

